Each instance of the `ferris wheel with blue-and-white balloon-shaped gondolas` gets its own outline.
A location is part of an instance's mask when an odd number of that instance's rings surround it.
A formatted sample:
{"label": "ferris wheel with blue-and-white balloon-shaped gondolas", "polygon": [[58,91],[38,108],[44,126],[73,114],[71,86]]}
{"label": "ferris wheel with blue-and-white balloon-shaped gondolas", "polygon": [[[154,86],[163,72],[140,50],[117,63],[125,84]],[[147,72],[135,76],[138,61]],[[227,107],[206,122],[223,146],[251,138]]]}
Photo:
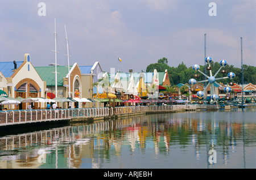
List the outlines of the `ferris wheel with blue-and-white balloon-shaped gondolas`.
{"label": "ferris wheel with blue-and-white balloon-shaped gondolas", "polygon": [[[212,58],[211,58],[211,57],[205,58],[205,62],[207,62],[207,65],[208,65],[208,66],[207,66],[206,68],[207,68],[207,70],[209,70],[210,76],[204,74],[204,72],[201,72],[201,71],[199,70],[199,68],[200,68],[199,65],[194,65],[194,66],[193,66],[193,70],[200,72],[201,74],[203,74],[203,75],[204,75],[205,77],[207,77],[208,79],[207,79],[207,80],[201,80],[201,81],[199,81],[199,82],[196,82],[195,79],[190,79],[190,80],[189,80],[189,84],[190,84],[190,85],[194,85],[194,84],[196,84],[196,83],[208,82],[208,84],[207,84],[207,85],[205,86],[205,88],[204,88],[204,91],[199,91],[199,92],[197,92],[197,97],[203,98],[204,95],[207,95],[207,93],[205,93],[205,92],[207,92],[207,88],[208,88],[208,86],[210,85],[210,101],[211,101],[211,102],[217,101],[217,100],[218,100],[218,96],[217,96],[216,93],[214,92],[214,84],[219,85],[219,86],[221,86],[221,87],[224,87],[224,86],[221,85],[220,83],[217,83],[216,80],[227,79],[227,78],[233,79],[233,78],[236,76],[236,74],[234,74],[234,72],[229,72],[228,76],[226,76],[226,77],[223,77],[223,78],[215,78],[216,75],[220,72],[221,68],[222,68],[222,67],[225,67],[225,66],[227,65],[227,62],[226,62],[225,60],[222,60],[222,61],[220,62],[221,67],[218,69],[218,71],[217,71],[216,74],[214,74],[214,75],[212,75],[212,67],[210,66],[210,62],[212,62]],[[222,73],[223,73],[223,72],[226,72],[226,70],[222,70]],[[230,88],[230,87],[224,87],[224,91],[225,91],[225,93],[230,93],[230,92],[231,92],[231,88]]]}

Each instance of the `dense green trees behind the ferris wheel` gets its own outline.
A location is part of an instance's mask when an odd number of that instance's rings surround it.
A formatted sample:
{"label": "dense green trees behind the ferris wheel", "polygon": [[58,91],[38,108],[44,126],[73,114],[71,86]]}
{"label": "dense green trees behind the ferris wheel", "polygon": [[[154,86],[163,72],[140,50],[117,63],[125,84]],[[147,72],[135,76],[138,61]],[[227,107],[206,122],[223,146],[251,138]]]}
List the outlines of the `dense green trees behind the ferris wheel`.
{"label": "dense green trees behind the ferris wheel", "polygon": [[[194,78],[197,81],[205,80],[205,76],[202,75],[200,72],[196,72],[193,70],[192,67],[187,67],[181,62],[177,67],[170,67],[167,65],[168,61],[167,58],[158,59],[158,63],[150,64],[146,68],[146,72],[154,72],[156,69],[158,72],[164,72],[165,70],[168,71],[169,79],[172,85],[179,84],[179,83],[188,83],[189,79],[193,78],[194,74],[199,74],[199,78]],[[218,62],[211,62],[210,66],[212,67],[212,75],[215,75],[216,72],[219,70],[220,63]],[[221,70],[227,70],[226,73],[222,74],[218,72],[216,78],[226,77],[229,72],[234,72],[236,77],[232,80],[230,79],[221,79],[217,80],[218,83],[228,84],[229,82],[234,82],[241,84],[242,83],[242,70],[241,68],[234,67],[233,65],[226,65],[222,67]],[[200,71],[205,72],[205,66],[200,65]],[[209,76],[210,73],[207,71],[207,75]],[[247,66],[243,65],[243,83],[248,84],[256,84],[256,67],[254,66]]]}

